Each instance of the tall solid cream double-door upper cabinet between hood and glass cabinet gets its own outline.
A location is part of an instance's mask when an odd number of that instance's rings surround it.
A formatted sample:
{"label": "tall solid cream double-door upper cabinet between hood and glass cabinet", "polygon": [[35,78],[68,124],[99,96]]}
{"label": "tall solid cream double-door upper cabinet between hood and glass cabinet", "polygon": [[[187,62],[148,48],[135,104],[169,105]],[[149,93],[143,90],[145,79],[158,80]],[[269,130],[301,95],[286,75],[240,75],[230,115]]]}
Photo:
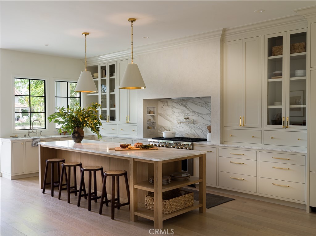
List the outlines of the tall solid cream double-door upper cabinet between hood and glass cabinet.
{"label": "tall solid cream double-door upper cabinet between hood and glass cabinet", "polygon": [[262,37],[224,43],[224,127],[261,127]]}

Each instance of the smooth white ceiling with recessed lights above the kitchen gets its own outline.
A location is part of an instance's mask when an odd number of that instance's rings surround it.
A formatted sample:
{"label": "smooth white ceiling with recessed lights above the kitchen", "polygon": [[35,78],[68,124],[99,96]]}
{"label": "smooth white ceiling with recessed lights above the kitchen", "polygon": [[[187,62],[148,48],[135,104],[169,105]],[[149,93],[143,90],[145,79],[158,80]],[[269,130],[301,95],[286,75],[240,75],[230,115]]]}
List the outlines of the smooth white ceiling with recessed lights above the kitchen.
{"label": "smooth white ceiling with recessed lights above the kitchen", "polygon": [[[0,48],[70,58],[104,55],[289,15],[312,1],[0,1]],[[263,13],[254,10],[264,9]],[[148,36],[148,39],[143,39]],[[45,46],[50,44],[50,46]]]}

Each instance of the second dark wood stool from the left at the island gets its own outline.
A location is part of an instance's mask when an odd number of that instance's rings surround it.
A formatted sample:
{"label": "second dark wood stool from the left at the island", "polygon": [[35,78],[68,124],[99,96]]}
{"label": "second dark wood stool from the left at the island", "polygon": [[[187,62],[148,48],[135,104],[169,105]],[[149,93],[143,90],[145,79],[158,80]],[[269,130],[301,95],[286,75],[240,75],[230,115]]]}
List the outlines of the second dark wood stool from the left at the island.
{"label": "second dark wood stool from the left at the island", "polygon": [[[61,164],[62,168],[61,168],[61,177],[60,177],[60,183],[59,183],[59,191],[58,191],[58,199],[60,199],[60,195],[61,195],[61,191],[67,189],[67,202],[70,203],[70,193],[75,193],[75,196],[77,196],[77,193],[79,192],[79,190],[77,190],[77,174],[76,174],[76,167],[79,166],[79,170],[80,170],[80,174],[82,173],[82,163],[81,162],[65,162],[63,164]],[[68,180],[67,180],[67,168],[68,167]],[[74,171],[74,186],[70,186],[70,175],[71,175],[71,167],[73,167],[73,171]],[[66,183],[67,183],[67,187],[63,188],[62,184],[63,184],[63,179],[64,179],[64,174],[65,174],[65,179],[66,179]],[[70,189],[74,189],[72,191],[70,191]],[[86,188],[85,185],[83,183],[83,193],[86,194]],[[87,196],[84,197],[85,199],[87,199]]]}

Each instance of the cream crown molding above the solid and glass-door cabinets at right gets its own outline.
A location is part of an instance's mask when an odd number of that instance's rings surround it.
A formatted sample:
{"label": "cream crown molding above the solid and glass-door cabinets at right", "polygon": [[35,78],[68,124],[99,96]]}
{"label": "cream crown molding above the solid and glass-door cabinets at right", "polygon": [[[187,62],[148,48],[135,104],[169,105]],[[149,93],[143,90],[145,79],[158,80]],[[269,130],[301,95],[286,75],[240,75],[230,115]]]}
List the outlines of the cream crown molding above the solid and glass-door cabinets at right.
{"label": "cream crown molding above the solid and glass-door cabinets at right", "polygon": [[266,20],[244,26],[227,28],[223,33],[223,41],[231,41],[247,37],[284,32],[306,28],[307,20],[301,15],[291,15],[273,20]]}

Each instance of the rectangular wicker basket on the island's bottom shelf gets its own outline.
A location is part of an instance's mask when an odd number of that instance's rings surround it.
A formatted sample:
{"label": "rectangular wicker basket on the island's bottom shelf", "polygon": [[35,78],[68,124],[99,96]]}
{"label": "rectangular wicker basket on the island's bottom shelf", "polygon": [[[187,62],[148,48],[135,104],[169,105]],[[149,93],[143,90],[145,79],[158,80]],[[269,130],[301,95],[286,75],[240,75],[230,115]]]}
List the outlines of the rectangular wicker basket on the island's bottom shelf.
{"label": "rectangular wicker basket on the island's bottom shelf", "polygon": [[[162,213],[169,214],[173,211],[193,205],[193,193],[179,188],[162,193]],[[145,207],[154,210],[154,193],[145,196]]]}

